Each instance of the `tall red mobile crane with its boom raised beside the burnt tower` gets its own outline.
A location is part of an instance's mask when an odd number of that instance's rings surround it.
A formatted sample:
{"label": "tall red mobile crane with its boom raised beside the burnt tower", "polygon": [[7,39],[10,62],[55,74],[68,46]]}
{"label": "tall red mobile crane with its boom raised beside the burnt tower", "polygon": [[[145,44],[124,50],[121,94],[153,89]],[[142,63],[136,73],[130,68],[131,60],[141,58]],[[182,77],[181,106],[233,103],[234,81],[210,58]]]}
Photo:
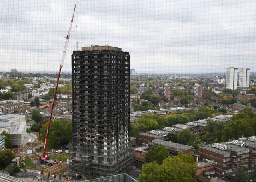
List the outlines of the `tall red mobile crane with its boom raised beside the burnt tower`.
{"label": "tall red mobile crane with its boom raised beside the burnt tower", "polygon": [[[71,19],[71,22],[70,22],[70,26],[69,26],[69,29],[68,29],[68,35],[66,37],[64,51],[63,51],[62,57],[61,57],[60,69],[59,69],[59,73],[58,73],[58,77],[57,77],[57,81],[56,81],[56,86],[55,86],[55,90],[54,90],[54,94],[53,94],[52,106],[51,106],[50,115],[49,115],[49,119],[48,119],[48,127],[47,127],[47,130],[46,130],[46,136],[45,136],[45,142],[44,142],[44,151],[43,151],[42,156],[39,157],[39,160],[41,160],[42,162],[46,162],[46,160],[50,160],[46,149],[47,149],[47,144],[48,144],[48,135],[49,135],[49,130],[50,130],[50,123],[51,123],[51,119],[52,119],[52,110],[53,110],[53,107],[54,107],[56,92],[57,92],[58,83],[59,83],[59,79],[60,79],[61,68],[63,66],[64,60],[65,60],[65,57],[66,57],[66,51],[67,51],[67,48],[68,48],[69,35],[70,35],[71,28],[72,28],[72,23],[73,23],[73,18],[74,18],[75,10],[76,10],[76,4],[75,4],[75,8],[74,8],[72,19]],[[55,163],[54,163],[54,161],[52,161],[52,162],[50,162],[50,164],[54,165]]]}

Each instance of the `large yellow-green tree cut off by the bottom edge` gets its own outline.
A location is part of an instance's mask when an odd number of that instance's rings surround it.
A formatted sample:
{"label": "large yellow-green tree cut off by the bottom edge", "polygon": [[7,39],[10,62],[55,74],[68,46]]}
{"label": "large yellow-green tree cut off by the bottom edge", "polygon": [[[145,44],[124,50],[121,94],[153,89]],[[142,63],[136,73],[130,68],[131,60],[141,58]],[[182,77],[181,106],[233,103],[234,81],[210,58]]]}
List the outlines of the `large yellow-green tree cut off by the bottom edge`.
{"label": "large yellow-green tree cut off by the bottom edge", "polygon": [[197,164],[192,155],[179,153],[176,157],[167,157],[162,165],[149,162],[142,166],[140,182],[196,182],[192,175]]}

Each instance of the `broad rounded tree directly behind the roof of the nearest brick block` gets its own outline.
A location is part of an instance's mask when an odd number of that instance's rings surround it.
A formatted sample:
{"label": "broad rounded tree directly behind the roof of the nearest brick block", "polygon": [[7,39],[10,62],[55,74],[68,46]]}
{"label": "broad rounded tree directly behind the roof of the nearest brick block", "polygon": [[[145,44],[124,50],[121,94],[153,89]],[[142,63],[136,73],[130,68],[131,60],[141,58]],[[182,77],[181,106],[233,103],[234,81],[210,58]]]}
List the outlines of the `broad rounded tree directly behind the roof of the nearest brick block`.
{"label": "broad rounded tree directly behind the roof of the nearest brick block", "polygon": [[253,134],[254,131],[246,119],[230,120],[224,126],[222,141],[228,141],[230,138],[251,136]]}

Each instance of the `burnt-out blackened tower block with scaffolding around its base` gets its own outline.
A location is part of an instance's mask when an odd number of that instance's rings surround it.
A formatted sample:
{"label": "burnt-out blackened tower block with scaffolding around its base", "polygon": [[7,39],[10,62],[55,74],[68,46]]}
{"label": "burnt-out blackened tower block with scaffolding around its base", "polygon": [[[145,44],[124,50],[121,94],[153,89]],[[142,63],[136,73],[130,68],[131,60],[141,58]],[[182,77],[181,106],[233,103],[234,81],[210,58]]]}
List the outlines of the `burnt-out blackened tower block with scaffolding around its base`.
{"label": "burnt-out blackened tower block with scaffolding around its base", "polygon": [[73,142],[70,172],[110,176],[125,172],[130,152],[130,55],[110,46],[72,55]]}

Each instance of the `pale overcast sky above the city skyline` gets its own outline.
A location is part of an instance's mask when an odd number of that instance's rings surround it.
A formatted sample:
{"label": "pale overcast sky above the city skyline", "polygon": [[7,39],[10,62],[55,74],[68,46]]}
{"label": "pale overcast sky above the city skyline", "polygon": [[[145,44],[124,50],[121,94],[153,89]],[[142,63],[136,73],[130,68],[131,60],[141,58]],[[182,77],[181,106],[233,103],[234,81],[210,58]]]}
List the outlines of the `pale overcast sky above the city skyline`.
{"label": "pale overcast sky above the city skyline", "polygon": [[76,2],[64,72],[77,40],[121,47],[136,72],[256,71],[255,0],[1,0],[0,70],[57,72]]}

